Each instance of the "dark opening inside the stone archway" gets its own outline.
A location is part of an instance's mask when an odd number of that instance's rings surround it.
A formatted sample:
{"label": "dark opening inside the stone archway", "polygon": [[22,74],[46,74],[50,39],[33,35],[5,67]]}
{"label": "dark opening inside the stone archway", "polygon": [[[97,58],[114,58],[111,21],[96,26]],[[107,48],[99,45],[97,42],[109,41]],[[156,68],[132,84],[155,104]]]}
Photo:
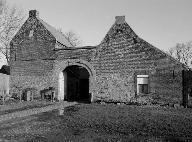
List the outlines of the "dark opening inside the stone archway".
{"label": "dark opening inside the stone archway", "polygon": [[86,68],[72,65],[65,68],[64,74],[64,100],[77,102],[90,102],[89,72]]}

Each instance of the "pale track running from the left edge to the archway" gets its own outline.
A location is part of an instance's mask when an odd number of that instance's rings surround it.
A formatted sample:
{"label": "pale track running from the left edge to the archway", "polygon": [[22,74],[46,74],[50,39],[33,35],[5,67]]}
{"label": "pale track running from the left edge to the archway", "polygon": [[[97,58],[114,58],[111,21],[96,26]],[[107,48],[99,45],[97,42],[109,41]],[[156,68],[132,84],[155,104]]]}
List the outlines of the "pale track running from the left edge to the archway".
{"label": "pale track running from the left edge to the archway", "polygon": [[63,107],[68,107],[68,106],[72,106],[75,104],[76,104],[76,102],[65,102],[65,101],[64,102],[56,102],[54,105],[49,105],[49,106],[40,107],[40,108],[33,108],[33,109],[8,113],[5,115],[0,115],[0,122],[5,121],[5,120],[18,118],[18,117],[25,117],[25,116],[29,116],[29,115],[42,113],[42,112],[47,112],[47,111],[51,111],[51,110],[59,109],[59,108],[63,108]]}

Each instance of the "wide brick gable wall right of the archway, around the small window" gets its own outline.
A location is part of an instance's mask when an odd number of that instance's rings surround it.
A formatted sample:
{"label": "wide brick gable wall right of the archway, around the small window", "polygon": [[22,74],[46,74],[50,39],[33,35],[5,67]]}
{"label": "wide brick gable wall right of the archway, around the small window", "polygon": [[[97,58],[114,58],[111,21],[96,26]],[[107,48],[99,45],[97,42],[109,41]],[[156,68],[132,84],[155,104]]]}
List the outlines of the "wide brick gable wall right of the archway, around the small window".
{"label": "wide brick gable wall right of the archway, around the small window", "polygon": [[98,99],[127,101],[136,92],[137,75],[149,75],[150,97],[181,103],[183,66],[139,38],[124,21],[115,23],[91,61],[97,74]]}

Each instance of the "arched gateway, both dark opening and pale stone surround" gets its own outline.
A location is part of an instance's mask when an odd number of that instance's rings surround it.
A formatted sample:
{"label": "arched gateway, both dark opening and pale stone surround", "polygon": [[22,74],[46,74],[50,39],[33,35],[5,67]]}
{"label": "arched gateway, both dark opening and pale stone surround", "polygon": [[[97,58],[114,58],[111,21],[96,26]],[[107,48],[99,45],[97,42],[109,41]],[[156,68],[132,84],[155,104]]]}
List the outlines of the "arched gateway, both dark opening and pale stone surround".
{"label": "arched gateway, both dark opening and pale stone surround", "polygon": [[95,73],[83,60],[58,63],[58,100],[92,102]]}

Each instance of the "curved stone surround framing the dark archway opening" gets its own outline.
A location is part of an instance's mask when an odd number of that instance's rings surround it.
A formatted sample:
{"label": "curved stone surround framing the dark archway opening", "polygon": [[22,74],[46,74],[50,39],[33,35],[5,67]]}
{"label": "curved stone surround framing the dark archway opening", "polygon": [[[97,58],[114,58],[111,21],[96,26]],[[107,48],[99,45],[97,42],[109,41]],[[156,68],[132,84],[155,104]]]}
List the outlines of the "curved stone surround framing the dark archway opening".
{"label": "curved stone surround framing the dark archway opening", "polygon": [[[54,70],[54,78],[56,79],[55,80],[55,88],[57,88],[57,91],[56,91],[56,94],[57,96],[61,96],[61,90],[59,85],[62,85],[62,84],[59,84],[59,82],[61,80],[64,80],[63,78],[61,78],[61,73],[69,66],[80,66],[80,67],[83,67],[85,68],[88,73],[89,73],[89,94],[91,95],[91,102],[94,100],[94,94],[95,94],[95,79],[96,79],[96,73],[95,73],[95,70],[93,68],[93,66],[87,62],[87,61],[84,61],[82,59],[68,59],[68,60],[64,60],[64,61],[56,61],[56,64],[55,64],[55,70]],[[65,75],[63,75],[64,77]],[[60,81],[59,81],[60,80]],[[64,95],[64,94],[63,94]],[[61,97],[60,100],[63,100],[64,97]]]}

